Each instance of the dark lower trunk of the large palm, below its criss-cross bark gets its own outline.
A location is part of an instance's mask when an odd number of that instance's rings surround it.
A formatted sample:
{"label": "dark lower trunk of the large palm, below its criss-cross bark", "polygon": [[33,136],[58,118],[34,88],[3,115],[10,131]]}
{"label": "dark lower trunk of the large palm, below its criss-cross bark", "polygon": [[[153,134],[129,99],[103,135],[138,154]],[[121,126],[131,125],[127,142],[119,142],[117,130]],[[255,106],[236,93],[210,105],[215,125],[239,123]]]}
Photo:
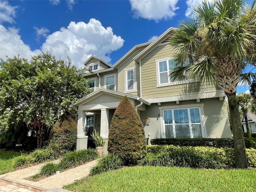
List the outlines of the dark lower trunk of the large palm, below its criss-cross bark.
{"label": "dark lower trunk of the large palm, below its criss-cross bark", "polygon": [[236,100],[236,93],[227,94],[227,97],[230,112],[230,123],[233,131],[235,164],[238,168],[247,168],[248,165],[246,158],[246,148],[244,144],[242,124],[240,121],[240,114]]}

